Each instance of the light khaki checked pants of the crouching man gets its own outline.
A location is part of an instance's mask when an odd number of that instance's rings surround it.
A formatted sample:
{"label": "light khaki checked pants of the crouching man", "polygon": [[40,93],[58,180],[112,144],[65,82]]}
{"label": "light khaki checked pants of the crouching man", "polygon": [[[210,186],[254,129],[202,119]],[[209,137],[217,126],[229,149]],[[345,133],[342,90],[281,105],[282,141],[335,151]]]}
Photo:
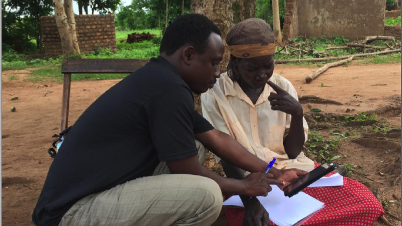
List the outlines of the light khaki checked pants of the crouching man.
{"label": "light khaki checked pants of the crouching man", "polygon": [[[159,172],[166,169],[166,163],[157,168]],[[164,174],[88,195],[68,210],[59,225],[205,226],[217,219],[221,208],[222,192],[215,181],[196,175]]]}

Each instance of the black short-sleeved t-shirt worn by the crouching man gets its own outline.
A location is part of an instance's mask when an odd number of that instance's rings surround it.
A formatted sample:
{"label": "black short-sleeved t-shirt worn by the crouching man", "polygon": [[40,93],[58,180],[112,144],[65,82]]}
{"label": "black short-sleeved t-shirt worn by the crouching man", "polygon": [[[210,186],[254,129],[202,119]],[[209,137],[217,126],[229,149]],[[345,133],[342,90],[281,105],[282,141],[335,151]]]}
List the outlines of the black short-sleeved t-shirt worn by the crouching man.
{"label": "black short-sleeved t-shirt worn by the crouching man", "polygon": [[150,176],[160,161],[197,155],[194,134],[213,129],[164,58],[152,58],[82,113],[55,156],[33,212],[57,225],[86,195]]}

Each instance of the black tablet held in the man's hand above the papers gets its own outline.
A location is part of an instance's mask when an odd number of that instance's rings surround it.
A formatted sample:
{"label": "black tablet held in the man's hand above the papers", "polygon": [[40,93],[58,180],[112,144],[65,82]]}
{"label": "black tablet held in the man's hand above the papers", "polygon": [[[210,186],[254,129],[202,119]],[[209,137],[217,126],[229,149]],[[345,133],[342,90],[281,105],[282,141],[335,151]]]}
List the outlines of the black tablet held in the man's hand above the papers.
{"label": "black tablet held in the man's hand above the papers", "polygon": [[310,173],[299,177],[290,185],[287,185],[283,188],[283,193],[285,196],[292,197],[293,195],[297,194],[299,191],[303,190],[308,185],[314,183],[321,177],[324,177],[327,173],[330,173],[338,166],[331,161],[324,162],[321,166],[318,166],[314,170],[310,171]]}

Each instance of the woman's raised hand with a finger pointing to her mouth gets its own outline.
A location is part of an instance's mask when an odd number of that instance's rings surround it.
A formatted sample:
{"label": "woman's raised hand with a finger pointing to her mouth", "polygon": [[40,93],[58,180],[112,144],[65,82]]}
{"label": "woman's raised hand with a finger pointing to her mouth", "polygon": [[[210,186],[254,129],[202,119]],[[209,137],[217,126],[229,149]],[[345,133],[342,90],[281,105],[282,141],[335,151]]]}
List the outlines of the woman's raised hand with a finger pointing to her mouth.
{"label": "woman's raised hand with a finger pointing to her mouth", "polygon": [[276,92],[270,92],[268,97],[272,110],[282,111],[292,116],[303,116],[303,108],[294,97],[271,81],[267,84]]}

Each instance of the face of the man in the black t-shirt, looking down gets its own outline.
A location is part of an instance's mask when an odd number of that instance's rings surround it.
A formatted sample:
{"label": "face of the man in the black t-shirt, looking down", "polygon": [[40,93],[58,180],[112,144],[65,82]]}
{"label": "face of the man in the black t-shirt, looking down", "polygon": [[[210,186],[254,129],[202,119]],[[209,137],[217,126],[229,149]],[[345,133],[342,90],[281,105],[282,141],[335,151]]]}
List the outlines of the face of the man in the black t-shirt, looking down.
{"label": "face of the man in the black t-shirt, looking down", "polygon": [[193,92],[200,94],[212,88],[220,76],[219,62],[224,55],[224,43],[219,35],[209,35],[204,53],[195,53],[183,78]]}

